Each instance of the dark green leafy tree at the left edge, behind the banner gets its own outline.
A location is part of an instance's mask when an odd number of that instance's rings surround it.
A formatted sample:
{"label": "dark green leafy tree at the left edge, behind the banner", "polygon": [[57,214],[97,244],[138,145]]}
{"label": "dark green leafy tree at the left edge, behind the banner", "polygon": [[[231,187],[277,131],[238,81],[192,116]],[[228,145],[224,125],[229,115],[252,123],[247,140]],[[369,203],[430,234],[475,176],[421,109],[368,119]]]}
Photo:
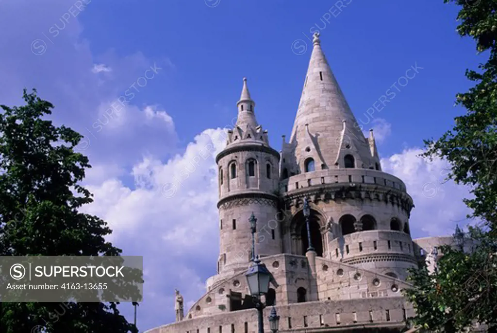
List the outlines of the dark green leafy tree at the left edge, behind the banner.
{"label": "dark green leafy tree at the left edge, behind the banner", "polygon": [[[79,183],[88,159],[82,135],[56,127],[54,106],[36,90],[25,105],[0,111],[0,255],[120,255],[106,222],[79,209],[92,195]],[[1,303],[2,332],[138,332],[117,302]],[[34,329],[36,328],[36,329]],[[34,331],[32,331],[34,330]]]}

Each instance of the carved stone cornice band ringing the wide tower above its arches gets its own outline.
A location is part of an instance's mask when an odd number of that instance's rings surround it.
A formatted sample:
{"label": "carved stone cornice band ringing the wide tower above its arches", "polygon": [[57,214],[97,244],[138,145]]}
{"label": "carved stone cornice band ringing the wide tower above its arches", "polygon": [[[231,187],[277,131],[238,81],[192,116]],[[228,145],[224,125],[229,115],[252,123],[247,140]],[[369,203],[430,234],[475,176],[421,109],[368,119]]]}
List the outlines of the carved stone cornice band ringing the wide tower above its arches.
{"label": "carved stone cornice band ringing the wide tower above its arches", "polygon": [[304,198],[312,203],[336,200],[371,200],[398,206],[411,215],[413,199],[404,191],[379,184],[332,183],[308,186],[287,192],[283,196],[285,207],[299,207]]}

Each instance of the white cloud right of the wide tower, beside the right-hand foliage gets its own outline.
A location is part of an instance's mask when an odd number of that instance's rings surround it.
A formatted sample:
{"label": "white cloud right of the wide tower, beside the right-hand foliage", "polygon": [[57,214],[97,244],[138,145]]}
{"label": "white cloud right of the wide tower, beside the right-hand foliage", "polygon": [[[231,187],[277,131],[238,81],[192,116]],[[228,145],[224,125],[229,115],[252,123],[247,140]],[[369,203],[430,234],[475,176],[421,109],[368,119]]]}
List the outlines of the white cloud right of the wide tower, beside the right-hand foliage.
{"label": "white cloud right of the wide tower, beside the right-hand foliage", "polygon": [[383,171],[402,179],[414,201],[410,227],[414,237],[450,235],[456,223],[469,223],[470,210],[462,203],[468,188],[445,182],[449,164],[440,159],[427,162],[419,148],[405,149],[381,160]]}

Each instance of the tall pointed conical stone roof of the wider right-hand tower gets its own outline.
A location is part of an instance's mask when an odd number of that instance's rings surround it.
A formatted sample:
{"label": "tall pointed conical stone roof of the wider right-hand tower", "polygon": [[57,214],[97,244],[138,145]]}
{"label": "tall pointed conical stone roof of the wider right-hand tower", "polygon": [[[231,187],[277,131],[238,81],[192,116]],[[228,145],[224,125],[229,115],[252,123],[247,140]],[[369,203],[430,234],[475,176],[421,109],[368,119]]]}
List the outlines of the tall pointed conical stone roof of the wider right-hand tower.
{"label": "tall pointed conical stone roof of the wider right-hand tower", "polygon": [[295,162],[302,169],[303,159],[313,157],[316,170],[342,168],[343,157],[350,154],[356,168],[369,168],[374,157],[331,72],[319,33],[314,34],[313,44],[290,139]]}

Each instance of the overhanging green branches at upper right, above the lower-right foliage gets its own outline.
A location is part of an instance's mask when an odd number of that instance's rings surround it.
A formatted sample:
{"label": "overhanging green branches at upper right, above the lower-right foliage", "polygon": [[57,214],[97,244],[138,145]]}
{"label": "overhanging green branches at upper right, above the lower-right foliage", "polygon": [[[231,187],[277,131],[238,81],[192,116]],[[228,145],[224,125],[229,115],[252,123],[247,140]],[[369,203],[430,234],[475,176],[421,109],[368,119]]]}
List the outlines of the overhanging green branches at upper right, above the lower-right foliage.
{"label": "overhanging green branches at upper right, above the lower-right foliage", "polygon": [[438,156],[451,163],[447,175],[469,185],[474,198],[465,199],[473,217],[497,224],[497,1],[445,0],[462,5],[457,31],[471,36],[478,52],[489,53],[478,71],[466,70],[475,86],[457,95],[456,104],[467,112],[455,117],[455,125],[438,140],[425,140],[425,157]]}

